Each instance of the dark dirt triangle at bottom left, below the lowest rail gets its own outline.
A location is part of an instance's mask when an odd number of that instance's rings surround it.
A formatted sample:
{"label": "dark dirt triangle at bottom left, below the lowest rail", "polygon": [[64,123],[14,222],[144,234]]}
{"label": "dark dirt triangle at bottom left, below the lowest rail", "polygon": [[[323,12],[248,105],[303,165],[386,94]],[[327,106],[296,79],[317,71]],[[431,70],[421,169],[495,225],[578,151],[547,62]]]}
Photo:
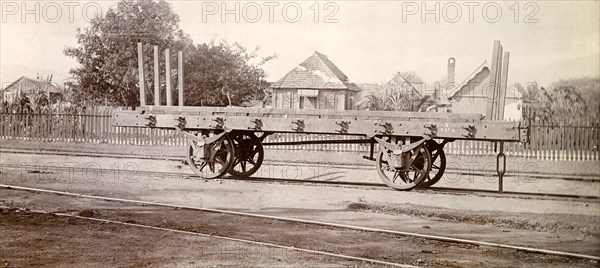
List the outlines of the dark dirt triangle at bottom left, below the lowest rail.
{"label": "dark dirt triangle at bottom left, below the lowest rail", "polygon": [[36,214],[0,212],[2,267],[362,267],[265,246]]}

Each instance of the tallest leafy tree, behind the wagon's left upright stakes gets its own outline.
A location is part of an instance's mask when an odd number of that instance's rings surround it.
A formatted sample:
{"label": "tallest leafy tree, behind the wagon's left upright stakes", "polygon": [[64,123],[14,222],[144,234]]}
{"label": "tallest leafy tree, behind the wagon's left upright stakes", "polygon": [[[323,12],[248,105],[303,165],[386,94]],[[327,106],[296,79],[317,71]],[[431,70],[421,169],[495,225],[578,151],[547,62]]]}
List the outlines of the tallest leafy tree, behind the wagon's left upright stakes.
{"label": "tallest leafy tree, behind the wagon's left upright stakes", "polygon": [[[68,47],[64,53],[81,65],[71,74],[78,79],[83,95],[96,103],[139,105],[137,42],[158,45],[160,51],[191,47],[178,24],[178,15],[164,0],[121,0],[105,17],[94,18],[85,30],[78,29],[79,46]],[[152,47],[145,46],[144,54],[144,81],[146,88],[152,88]],[[152,94],[147,92],[148,99]]]}

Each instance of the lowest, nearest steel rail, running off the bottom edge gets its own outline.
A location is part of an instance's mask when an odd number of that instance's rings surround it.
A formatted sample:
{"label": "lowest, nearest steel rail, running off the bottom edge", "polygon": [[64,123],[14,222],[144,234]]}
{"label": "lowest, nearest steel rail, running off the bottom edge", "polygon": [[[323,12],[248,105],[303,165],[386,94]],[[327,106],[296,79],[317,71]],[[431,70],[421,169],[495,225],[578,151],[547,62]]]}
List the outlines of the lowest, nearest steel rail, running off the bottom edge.
{"label": "lowest, nearest steel rail, running off the bottom edge", "polygon": [[194,236],[200,236],[200,237],[206,237],[206,238],[216,238],[216,239],[233,241],[233,242],[238,242],[238,243],[266,246],[266,247],[285,249],[285,250],[294,250],[294,251],[300,251],[300,252],[305,252],[305,253],[324,255],[324,256],[353,260],[353,261],[361,261],[361,262],[367,262],[367,263],[372,263],[372,264],[382,264],[382,265],[393,266],[393,267],[401,267],[401,268],[418,267],[418,266],[407,265],[407,264],[402,264],[402,263],[387,262],[387,261],[381,261],[381,260],[376,260],[376,259],[355,257],[355,256],[350,256],[350,255],[345,255],[345,254],[340,254],[340,253],[332,253],[332,252],[327,252],[327,251],[322,251],[322,250],[299,248],[299,247],[286,246],[286,245],[280,245],[280,244],[269,243],[269,242],[254,241],[254,240],[235,238],[235,237],[230,237],[230,236],[213,235],[213,234],[207,234],[207,233],[202,233],[202,232],[184,231],[184,230],[179,230],[179,229],[164,228],[164,227],[145,225],[145,224],[139,224],[139,223],[129,223],[129,222],[122,222],[122,221],[108,220],[108,219],[101,219],[101,218],[83,217],[83,216],[79,216],[79,215],[71,215],[71,214],[66,214],[66,213],[57,213],[57,212],[49,212],[49,211],[42,211],[42,210],[29,210],[28,212],[38,213],[38,214],[46,214],[46,215],[54,215],[54,216],[60,216],[60,217],[69,217],[69,218],[95,221],[95,222],[101,222],[101,223],[118,224],[118,225],[123,225],[123,226],[128,226],[128,227],[137,227],[137,228],[144,228],[144,229],[157,230],[157,231],[166,231],[166,232],[172,232],[172,233],[177,233],[177,234],[194,235]]}

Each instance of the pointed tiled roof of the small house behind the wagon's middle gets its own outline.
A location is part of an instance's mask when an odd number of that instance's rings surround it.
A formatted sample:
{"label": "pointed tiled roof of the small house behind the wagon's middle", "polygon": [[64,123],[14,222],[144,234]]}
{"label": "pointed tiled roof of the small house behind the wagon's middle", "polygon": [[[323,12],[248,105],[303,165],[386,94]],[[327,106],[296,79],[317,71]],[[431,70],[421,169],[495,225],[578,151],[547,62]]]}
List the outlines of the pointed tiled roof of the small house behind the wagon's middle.
{"label": "pointed tiled roof of the small house behind the wagon's middle", "polygon": [[360,91],[327,56],[315,51],[296,68],[271,85],[274,89],[348,89]]}

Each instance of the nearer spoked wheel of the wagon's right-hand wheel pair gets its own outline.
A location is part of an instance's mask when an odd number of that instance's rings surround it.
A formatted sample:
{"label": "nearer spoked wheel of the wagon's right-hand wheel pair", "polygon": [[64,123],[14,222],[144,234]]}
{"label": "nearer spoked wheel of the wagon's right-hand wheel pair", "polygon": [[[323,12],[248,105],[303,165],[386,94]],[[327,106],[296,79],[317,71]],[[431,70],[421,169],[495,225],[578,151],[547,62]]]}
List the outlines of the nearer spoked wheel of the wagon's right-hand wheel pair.
{"label": "nearer spoked wheel of the wagon's right-hand wheel pair", "polygon": [[426,146],[417,147],[408,152],[414,158],[412,165],[406,170],[398,170],[390,165],[392,152],[381,148],[377,155],[377,173],[385,184],[396,190],[412,190],[419,186],[431,169],[431,155]]}

